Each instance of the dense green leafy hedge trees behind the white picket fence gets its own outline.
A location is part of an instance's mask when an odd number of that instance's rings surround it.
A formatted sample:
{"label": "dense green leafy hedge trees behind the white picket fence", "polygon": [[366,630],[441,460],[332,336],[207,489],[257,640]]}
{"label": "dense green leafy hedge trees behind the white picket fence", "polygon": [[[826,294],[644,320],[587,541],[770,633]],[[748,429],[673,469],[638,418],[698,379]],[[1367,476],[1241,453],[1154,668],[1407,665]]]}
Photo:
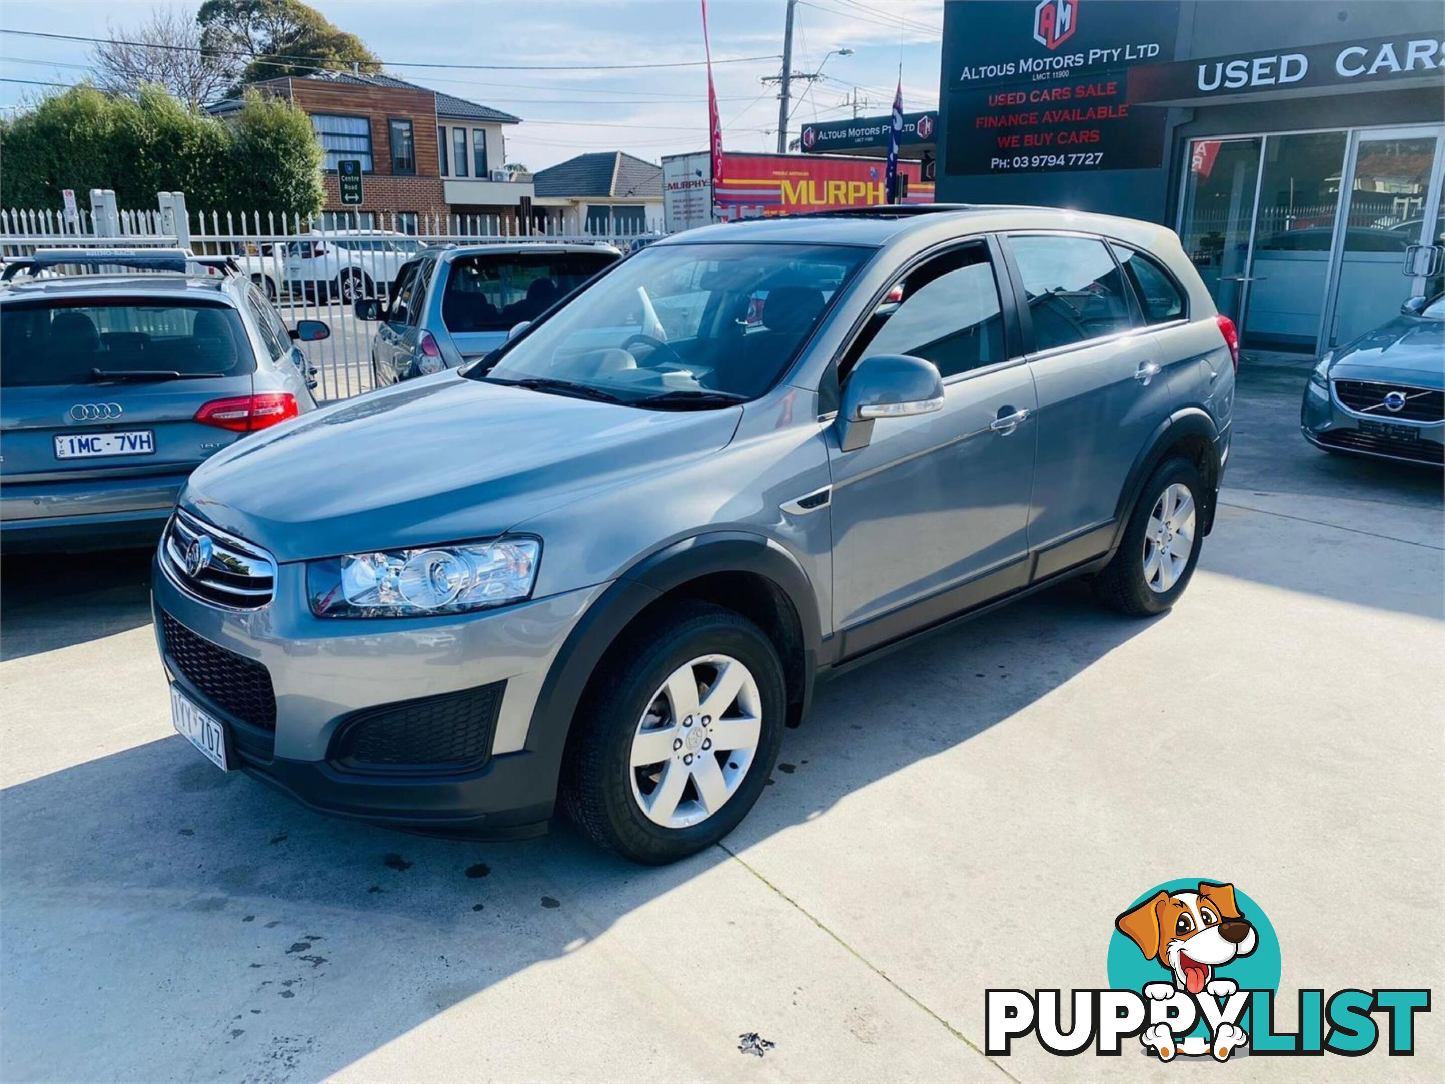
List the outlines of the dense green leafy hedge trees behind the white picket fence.
{"label": "dense green leafy hedge trees behind the white picket fence", "polygon": [[314,215],[321,156],[311,120],[282,98],[251,91],[223,121],[158,85],[133,97],[81,85],[0,121],[0,192],[36,210],[59,210],[65,188],[113,188],[126,208],[185,192],[195,211]]}

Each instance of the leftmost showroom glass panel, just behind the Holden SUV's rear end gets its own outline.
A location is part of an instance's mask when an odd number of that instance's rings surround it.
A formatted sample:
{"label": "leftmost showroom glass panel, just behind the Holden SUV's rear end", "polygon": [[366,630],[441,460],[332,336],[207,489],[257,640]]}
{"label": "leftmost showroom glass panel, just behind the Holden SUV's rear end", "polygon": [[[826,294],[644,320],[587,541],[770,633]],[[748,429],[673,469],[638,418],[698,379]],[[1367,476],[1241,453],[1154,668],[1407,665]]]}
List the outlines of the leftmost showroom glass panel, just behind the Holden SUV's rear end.
{"label": "leftmost showroom glass panel, just behind the Holden SUV's rear end", "polygon": [[1235,324],[1244,312],[1261,136],[1196,139],[1188,147],[1179,238],[1214,305]]}

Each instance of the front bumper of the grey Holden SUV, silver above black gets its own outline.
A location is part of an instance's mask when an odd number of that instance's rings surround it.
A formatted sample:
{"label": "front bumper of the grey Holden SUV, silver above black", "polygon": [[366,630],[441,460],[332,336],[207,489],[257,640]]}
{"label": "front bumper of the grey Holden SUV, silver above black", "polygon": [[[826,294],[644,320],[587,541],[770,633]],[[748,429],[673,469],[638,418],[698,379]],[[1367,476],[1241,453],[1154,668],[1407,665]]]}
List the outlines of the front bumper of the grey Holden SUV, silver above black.
{"label": "front bumper of the grey Holden SUV, silver above black", "polygon": [[[283,564],[260,610],[224,610],[152,568],[156,642],[168,676],[227,724],[241,770],[319,812],[405,828],[519,835],[540,830],[556,796],[561,747],[530,734],[538,692],[572,626],[604,585],[436,619],[318,619],[305,565]],[[168,652],[162,614],[264,668],[275,730],[249,726],[191,681]],[[194,669],[194,668],[192,668]],[[367,708],[503,684],[490,756],[475,770],[358,773],[340,756],[344,724]],[[539,726],[566,727],[569,720]]]}

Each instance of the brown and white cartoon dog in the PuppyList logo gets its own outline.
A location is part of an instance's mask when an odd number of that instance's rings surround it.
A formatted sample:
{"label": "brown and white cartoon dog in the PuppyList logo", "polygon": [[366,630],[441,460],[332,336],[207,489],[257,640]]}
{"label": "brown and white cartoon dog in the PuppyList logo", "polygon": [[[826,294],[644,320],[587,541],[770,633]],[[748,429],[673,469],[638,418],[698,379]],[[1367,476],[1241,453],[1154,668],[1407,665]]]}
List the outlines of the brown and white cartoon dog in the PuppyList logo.
{"label": "brown and white cartoon dog in the PuppyList logo", "polygon": [[[1159,890],[1114,919],[1114,925],[1139,945],[1146,960],[1157,960],[1173,973],[1173,984],[1149,983],[1144,987],[1144,996],[1159,1002],[1168,1000],[1176,990],[1191,996],[1208,991],[1211,997],[1228,997],[1238,990],[1238,984],[1233,978],[1215,978],[1215,968],[1248,955],[1259,942],[1254,926],[1234,903],[1233,885],[1201,882],[1198,892]],[[1225,1029],[1228,1033],[1224,1033]],[[1220,1061],[1228,1057],[1233,1046],[1247,1042],[1244,1031],[1234,1025],[1222,1023],[1220,1032],[1209,1044],[1209,1052]],[[1175,1054],[1166,1023],[1146,1029],[1140,1041],[1157,1049],[1165,1061]],[[1194,1054],[1194,1045],[1186,1039],[1181,1052]]]}

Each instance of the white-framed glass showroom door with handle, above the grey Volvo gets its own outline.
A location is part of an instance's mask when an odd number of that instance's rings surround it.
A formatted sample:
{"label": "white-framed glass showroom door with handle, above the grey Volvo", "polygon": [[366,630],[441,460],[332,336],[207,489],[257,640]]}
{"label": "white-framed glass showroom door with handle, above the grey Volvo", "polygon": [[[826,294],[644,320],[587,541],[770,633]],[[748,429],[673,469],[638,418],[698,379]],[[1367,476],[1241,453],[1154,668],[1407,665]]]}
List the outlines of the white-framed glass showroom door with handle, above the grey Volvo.
{"label": "white-framed glass showroom door with handle, above the grey Volvo", "polygon": [[1438,280],[1406,273],[1413,244],[1441,244],[1439,127],[1355,133],[1344,185],[1345,228],[1334,272],[1334,308],[1322,348],[1358,338]]}

